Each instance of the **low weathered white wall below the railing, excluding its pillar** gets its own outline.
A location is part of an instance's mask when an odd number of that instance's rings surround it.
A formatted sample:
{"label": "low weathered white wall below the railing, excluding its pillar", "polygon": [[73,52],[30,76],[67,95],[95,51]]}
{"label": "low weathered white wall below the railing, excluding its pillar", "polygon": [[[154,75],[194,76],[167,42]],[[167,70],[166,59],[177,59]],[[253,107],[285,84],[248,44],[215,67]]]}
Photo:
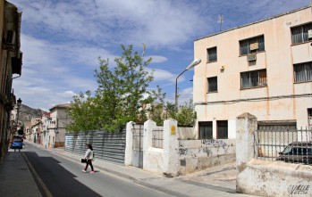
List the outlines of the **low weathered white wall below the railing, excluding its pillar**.
{"label": "low weathered white wall below the railing, excluding its pillar", "polygon": [[250,160],[240,169],[237,192],[259,196],[312,196],[312,167],[282,161]]}

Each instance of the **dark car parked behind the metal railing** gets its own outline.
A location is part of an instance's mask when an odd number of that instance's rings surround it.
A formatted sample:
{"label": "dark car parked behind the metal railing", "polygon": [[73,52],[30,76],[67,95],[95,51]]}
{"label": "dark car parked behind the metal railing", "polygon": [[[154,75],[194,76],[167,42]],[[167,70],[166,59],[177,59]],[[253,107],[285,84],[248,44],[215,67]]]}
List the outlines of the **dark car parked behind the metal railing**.
{"label": "dark car parked behind the metal railing", "polygon": [[312,142],[294,142],[288,144],[282,152],[279,152],[279,155],[276,160],[312,164]]}

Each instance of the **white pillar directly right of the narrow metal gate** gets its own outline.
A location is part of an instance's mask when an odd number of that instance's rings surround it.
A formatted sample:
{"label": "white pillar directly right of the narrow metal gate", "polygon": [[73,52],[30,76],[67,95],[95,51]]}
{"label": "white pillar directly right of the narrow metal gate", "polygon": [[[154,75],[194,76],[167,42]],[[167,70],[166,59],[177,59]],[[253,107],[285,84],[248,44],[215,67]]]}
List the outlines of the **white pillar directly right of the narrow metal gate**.
{"label": "white pillar directly right of the narrow metal gate", "polygon": [[152,147],[153,129],[156,127],[156,122],[148,119],[144,122],[144,133],[143,133],[143,169],[150,167],[148,163],[148,149]]}

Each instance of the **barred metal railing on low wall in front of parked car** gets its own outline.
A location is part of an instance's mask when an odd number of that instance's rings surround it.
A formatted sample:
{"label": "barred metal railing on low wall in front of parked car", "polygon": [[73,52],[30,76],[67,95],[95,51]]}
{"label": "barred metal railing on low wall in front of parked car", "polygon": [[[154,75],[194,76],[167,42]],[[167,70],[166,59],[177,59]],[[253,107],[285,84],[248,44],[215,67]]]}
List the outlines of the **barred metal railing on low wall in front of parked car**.
{"label": "barred metal railing on low wall in front of parked car", "polygon": [[312,165],[312,129],[258,129],[254,153],[257,159]]}

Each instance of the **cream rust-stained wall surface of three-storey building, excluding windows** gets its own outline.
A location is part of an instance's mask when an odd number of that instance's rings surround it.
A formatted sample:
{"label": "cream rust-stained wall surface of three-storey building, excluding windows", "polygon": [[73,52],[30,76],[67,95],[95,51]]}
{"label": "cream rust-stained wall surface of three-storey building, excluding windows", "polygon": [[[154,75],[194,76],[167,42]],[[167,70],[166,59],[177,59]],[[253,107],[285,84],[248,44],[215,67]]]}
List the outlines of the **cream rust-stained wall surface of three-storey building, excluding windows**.
{"label": "cream rust-stained wall surface of three-storey building, excluding windows", "polygon": [[[258,120],[296,120],[298,127],[308,125],[311,97],[283,98],[249,102],[243,99],[268,98],[292,94],[312,94],[312,82],[294,83],[293,64],[312,61],[311,42],[291,45],[291,27],[311,22],[311,8],[273,17],[264,21],[199,38],[194,42],[194,56],[200,62],[194,68],[193,101],[198,121],[229,121],[229,138],[235,137],[230,121],[243,112]],[[250,65],[247,55],[240,55],[240,40],[264,35],[265,51],[257,53]],[[207,48],[217,47],[217,61],[207,62]],[[224,70],[221,70],[221,67]],[[266,69],[267,86],[240,89],[240,72]],[[218,91],[207,93],[207,78],[217,77]],[[232,103],[214,103],[237,100]],[[204,103],[204,104],[203,104]],[[205,104],[209,103],[209,104]],[[232,130],[230,130],[232,129]],[[198,125],[196,127],[198,130]],[[215,138],[215,137],[214,137]]]}

